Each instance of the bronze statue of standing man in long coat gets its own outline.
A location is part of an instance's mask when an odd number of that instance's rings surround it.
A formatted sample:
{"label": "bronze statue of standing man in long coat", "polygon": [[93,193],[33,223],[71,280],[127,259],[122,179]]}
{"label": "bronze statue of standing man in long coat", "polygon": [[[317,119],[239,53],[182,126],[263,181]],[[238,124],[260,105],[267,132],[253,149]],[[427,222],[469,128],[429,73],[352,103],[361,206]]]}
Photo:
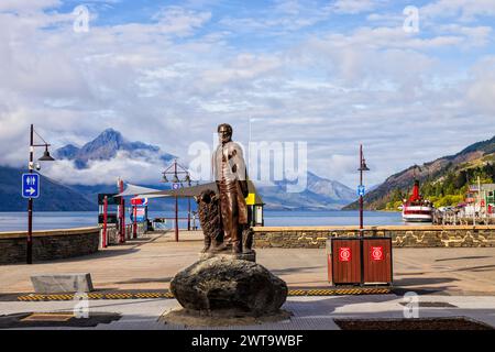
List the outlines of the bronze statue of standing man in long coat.
{"label": "bronze statue of standing man in long coat", "polygon": [[213,175],[220,195],[223,241],[242,253],[242,231],[248,224],[248,174],[241,146],[232,141],[232,127],[218,127],[219,146],[213,154]]}

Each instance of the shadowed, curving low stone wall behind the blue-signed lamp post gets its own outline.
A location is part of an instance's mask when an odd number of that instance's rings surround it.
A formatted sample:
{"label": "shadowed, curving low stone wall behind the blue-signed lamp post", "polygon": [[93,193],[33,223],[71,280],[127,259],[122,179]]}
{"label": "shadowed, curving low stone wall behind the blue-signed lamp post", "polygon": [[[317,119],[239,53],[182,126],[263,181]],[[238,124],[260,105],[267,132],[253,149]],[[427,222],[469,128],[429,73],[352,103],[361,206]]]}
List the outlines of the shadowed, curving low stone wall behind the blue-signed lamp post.
{"label": "shadowed, curving low stone wall behind the blue-signed lamp post", "polygon": [[[26,231],[0,232],[0,264],[25,263],[26,235]],[[33,231],[33,262],[91,254],[99,243],[99,228]]]}

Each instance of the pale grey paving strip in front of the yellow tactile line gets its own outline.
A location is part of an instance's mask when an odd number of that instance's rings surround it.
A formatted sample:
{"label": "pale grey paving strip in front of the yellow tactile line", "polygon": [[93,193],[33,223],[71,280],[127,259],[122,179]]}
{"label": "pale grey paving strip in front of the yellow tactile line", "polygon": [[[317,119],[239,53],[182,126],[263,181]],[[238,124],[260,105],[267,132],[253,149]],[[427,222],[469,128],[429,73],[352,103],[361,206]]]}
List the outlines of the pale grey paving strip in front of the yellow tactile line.
{"label": "pale grey paving strip in front of the yellow tactile line", "polygon": [[[431,306],[448,304],[449,307],[419,307],[418,318],[466,317],[495,328],[495,297],[479,296],[419,296],[419,302]],[[89,315],[95,312],[120,314],[121,318],[110,323],[100,323],[96,330],[339,330],[333,321],[340,319],[402,319],[408,308],[405,299],[396,295],[333,296],[333,297],[290,297],[283,306],[293,312],[285,321],[238,327],[185,327],[168,326],[158,321],[160,317],[179,307],[175,299],[139,300],[90,300]],[[73,311],[74,301],[50,302],[0,302],[2,315],[18,312]],[[432,305],[435,306],[435,305]],[[32,329],[32,328],[31,328]],[[48,328],[35,328],[48,329]],[[54,328],[50,328],[54,329]],[[68,329],[59,327],[56,329]],[[73,328],[74,329],[74,328]]]}

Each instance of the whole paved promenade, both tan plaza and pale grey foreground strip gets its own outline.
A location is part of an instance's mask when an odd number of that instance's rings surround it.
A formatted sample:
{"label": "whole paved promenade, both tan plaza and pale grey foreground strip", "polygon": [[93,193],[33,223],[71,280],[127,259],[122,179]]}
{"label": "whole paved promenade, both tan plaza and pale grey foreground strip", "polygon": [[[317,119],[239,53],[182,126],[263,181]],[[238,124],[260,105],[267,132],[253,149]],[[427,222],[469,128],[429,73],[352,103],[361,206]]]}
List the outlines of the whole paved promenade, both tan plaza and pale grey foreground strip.
{"label": "whole paved promenade, both tan plaza and pale grey foreground strip", "polygon": [[[91,273],[97,290],[156,290],[168,288],[176,272],[193,264],[201,249],[201,233],[150,234],[85,257],[33,265],[0,266],[0,329],[20,328],[12,321],[31,312],[74,315],[78,301],[16,301],[32,293],[30,275]],[[289,288],[328,287],[324,250],[257,250],[257,262],[285,279]],[[395,287],[392,294],[364,296],[288,297],[284,309],[290,319],[275,323],[229,328],[170,326],[160,321],[179,308],[175,299],[89,300],[90,320],[72,319],[50,329],[229,329],[339,330],[336,319],[402,319],[404,294],[417,292],[418,318],[466,317],[495,328],[495,249],[394,249]],[[10,316],[14,315],[14,316]],[[106,322],[91,321],[111,316]],[[95,318],[96,317],[96,318]],[[117,317],[117,318],[116,318]],[[94,320],[91,320],[94,319]],[[88,322],[89,321],[89,322]],[[36,326],[35,329],[46,329]]]}

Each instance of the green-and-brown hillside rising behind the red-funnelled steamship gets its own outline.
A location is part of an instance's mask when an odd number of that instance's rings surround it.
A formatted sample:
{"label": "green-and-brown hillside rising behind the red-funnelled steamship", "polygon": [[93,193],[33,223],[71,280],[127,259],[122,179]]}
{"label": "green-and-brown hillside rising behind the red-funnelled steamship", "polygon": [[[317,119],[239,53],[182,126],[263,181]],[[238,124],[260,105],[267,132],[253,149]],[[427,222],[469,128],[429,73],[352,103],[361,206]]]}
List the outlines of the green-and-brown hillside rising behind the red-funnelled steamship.
{"label": "green-and-brown hillside rising behind the red-funnelled steamship", "polygon": [[[449,179],[455,180],[455,190],[468,183],[474,183],[473,175],[481,174],[485,169],[488,178],[494,178],[493,165],[495,164],[495,136],[491,140],[474,143],[454,155],[439,157],[420,166],[413,165],[399,173],[389,176],[382,185],[366,194],[363,198],[364,207],[370,210],[384,209],[394,199],[397,191],[407,195],[417,178],[421,185],[431,187],[440,186]],[[491,174],[491,175],[488,175]],[[443,195],[444,189],[441,189]],[[345,206],[344,210],[358,209],[354,201]]]}

